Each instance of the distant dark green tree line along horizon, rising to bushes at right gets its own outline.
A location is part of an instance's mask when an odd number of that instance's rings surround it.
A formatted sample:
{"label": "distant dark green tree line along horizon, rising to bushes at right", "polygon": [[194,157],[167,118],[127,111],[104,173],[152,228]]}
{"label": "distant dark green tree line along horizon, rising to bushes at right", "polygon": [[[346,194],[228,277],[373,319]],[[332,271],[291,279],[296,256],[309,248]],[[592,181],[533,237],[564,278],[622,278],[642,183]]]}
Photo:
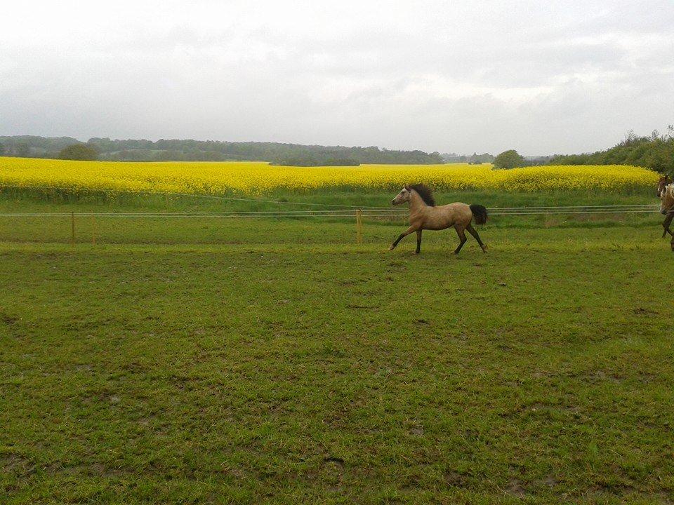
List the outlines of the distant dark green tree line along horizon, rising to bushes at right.
{"label": "distant dark green tree line along horizon, rising to bushes at right", "polygon": [[674,176],[674,126],[666,133],[638,136],[630,131],[616,146],[583,154],[555,154],[524,158],[514,149],[498,156],[489,153],[458,156],[379,147],[343,147],[280,142],[220,142],[216,140],[110,140],[93,137],[34,135],[0,136],[0,156],[110,161],[270,161],[286,166],[357,166],[361,163],[440,164],[494,163],[495,168],[531,165],[634,165]]}

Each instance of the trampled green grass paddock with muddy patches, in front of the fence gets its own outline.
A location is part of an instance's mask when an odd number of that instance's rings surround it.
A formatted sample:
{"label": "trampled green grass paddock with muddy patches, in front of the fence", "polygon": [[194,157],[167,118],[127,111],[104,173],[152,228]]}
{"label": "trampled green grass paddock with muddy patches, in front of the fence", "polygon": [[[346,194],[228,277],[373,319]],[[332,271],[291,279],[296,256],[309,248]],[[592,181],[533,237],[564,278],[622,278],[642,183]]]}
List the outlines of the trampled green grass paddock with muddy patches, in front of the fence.
{"label": "trampled green grass paddock with muddy patches, in front of the fence", "polygon": [[93,245],[82,218],[71,247],[3,218],[0,501],[674,501],[659,217],[508,219],[487,255],[427,231],[416,256],[388,222],[99,220]]}

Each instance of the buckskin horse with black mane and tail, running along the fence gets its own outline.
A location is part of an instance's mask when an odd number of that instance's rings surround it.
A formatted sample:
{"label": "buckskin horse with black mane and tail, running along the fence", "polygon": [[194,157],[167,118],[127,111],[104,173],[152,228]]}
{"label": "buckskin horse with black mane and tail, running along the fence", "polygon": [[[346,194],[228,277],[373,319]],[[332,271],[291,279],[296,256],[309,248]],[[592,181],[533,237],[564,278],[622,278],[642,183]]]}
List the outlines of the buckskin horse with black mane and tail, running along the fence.
{"label": "buckskin horse with black mane and tail, running along the fence", "polygon": [[454,254],[458,254],[466,242],[464,230],[475,237],[480,244],[482,252],[487,253],[487,245],[480,240],[480,235],[473,228],[473,217],[477,224],[487,222],[487,209],[480,205],[466,205],[465,203],[450,203],[449,205],[436,207],[432,191],[424,184],[412,184],[405,186],[395,198],[393,205],[409,203],[409,228],[402,232],[391,244],[389,250],[395,248],[404,237],[416,231],[416,254],[421,252],[421,231],[425,229],[442,230],[454,227],[458,238],[458,244]]}

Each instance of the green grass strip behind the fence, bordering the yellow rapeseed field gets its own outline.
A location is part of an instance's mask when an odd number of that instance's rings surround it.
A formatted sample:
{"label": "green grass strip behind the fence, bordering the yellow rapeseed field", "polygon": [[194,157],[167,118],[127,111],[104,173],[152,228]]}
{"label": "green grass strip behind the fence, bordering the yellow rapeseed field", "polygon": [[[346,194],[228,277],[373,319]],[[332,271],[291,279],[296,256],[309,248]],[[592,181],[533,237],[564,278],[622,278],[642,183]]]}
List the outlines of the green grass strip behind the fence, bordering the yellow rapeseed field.
{"label": "green grass strip behind the fence, bordering the yellow rapeseed field", "polygon": [[[393,208],[391,198],[395,194],[359,193],[354,191],[317,191],[311,194],[266,194],[259,196],[230,195],[190,196],[176,194],[107,194],[96,191],[36,191],[4,188],[0,190],[0,241],[69,242],[72,236],[70,213],[274,213],[274,219],[263,220],[251,226],[255,220],[241,223],[229,222],[223,217],[199,218],[121,218],[78,217],[75,223],[77,242],[97,243],[242,243],[249,241],[283,239],[304,241],[303,229],[321,227],[321,223],[344,224],[324,229],[322,235],[336,242],[348,243],[355,238],[355,210],[362,208],[364,241],[381,243],[396,234],[405,220],[397,217],[368,217],[369,208],[390,208],[392,212],[404,211]],[[240,198],[240,199],[239,199]],[[560,193],[491,193],[465,191],[436,194],[438,204],[463,201],[481,203],[487,208],[553,207],[553,206],[609,206],[641,205],[658,203],[653,194],[645,191],[635,194],[603,194],[596,191]],[[332,207],[331,207],[332,206]],[[345,206],[345,207],[338,207]],[[288,213],[313,210],[326,212],[345,211],[341,217],[289,218]],[[6,217],[11,213],[60,213],[62,217]],[[527,215],[522,217],[493,215],[488,228],[546,228],[546,227],[653,227],[661,219],[653,213],[600,213],[600,214],[555,214]],[[348,224],[350,223],[350,225]],[[392,228],[378,227],[389,224]],[[374,226],[372,226],[374,225]],[[238,231],[242,229],[242,231]],[[329,231],[330,230],[330,231]],[[246,236],[238,236],[244,233]],[[427,234],[428,235],[428,234]],[[326,238],[326,237],[324,237]],[[309,241],[315,241],[310,235]],[[391,239],[392,240],[392,239]]]}

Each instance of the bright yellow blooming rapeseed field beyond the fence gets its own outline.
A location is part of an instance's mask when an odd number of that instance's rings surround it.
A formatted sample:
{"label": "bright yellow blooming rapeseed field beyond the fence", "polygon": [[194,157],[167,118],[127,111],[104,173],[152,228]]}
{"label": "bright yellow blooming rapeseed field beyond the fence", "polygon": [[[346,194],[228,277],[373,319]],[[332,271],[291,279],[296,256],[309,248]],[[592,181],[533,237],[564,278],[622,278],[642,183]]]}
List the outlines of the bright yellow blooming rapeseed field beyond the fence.
{"label": "bright yellow blooming rapeseed field beyond the fence", "polygon": [[425,182],[437,190],[595,190],[618,193],[652,187],[657,175],[633,166],[362,165],[284,167],[263,162],[65,161],[0,158],[0,186],[157,193],[264,194],[322,188],[397,189]]}

